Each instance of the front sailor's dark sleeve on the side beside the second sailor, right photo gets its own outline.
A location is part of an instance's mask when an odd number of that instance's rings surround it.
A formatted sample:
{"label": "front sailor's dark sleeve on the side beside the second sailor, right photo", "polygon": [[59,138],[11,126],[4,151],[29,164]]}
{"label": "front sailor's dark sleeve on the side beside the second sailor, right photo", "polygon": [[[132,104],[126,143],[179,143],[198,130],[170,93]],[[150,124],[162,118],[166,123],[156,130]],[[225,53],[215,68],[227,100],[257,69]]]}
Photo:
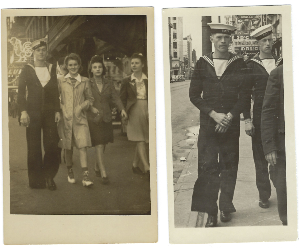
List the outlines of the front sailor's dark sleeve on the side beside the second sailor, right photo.
{"label": "front sailor's dark sleeve on the side beside the second sailor, right photo", "polygon": [[244,60],[238,62],[240,63],[240,68],[239,68],[239,73],[240,75],[240,82],[239,82],[239,88],[238,88],[238,93],[239,93],[239,98],[236,104],[233,106],[233,108],[230,110],[230,113],[233,116],[240,116],[240,114],[243,111],[244,108],[244,86],[246,84],[247,80],[247,66]]}

